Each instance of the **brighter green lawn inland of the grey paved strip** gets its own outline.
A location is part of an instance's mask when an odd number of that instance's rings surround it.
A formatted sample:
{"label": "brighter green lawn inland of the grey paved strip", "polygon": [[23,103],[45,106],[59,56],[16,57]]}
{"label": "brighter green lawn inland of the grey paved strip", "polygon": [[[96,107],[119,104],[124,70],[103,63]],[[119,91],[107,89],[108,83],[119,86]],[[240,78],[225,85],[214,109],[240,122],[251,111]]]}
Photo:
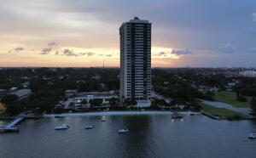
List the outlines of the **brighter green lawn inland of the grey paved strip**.
{"label": "brighter green lawn inland of the grey paved strip", "polygon": [[236,92],[216,92],[215,96],[213,97],[215,100],[220,102],[224,102],[227,104],[232,104],[237,108],[248,108],[250,107],[250,97],[247,97],[247,102],[239,102],[236,100]]}

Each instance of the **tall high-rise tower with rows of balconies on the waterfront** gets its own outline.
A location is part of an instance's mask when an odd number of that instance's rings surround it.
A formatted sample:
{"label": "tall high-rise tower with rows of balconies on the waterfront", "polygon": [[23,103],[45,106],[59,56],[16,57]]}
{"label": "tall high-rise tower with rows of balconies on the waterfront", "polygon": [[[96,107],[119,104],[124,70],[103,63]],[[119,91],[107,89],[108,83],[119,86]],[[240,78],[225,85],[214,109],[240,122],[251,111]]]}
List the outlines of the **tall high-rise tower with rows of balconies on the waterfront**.
{"label": "tall high-rise tower with rows of balconies on the waterfront", "polygon": [[135,17],[119,28],[120,99],[149,101],[151,93],[151,23]]}

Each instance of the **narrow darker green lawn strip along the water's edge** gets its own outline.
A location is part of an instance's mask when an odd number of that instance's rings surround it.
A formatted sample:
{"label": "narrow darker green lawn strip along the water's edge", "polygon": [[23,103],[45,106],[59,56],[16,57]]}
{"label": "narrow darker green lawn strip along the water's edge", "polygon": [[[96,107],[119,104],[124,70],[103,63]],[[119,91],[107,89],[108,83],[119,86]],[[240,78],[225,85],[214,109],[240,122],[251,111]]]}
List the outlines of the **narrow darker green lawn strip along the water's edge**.
{"label": "narrow darker green lawn strip along the water's edge", "polygon": [[211,114],[212,116],[224,116],[224,117],[234,117],[234,116],[243,116],[241,113],[232,111],[232,110],[226,110],[224,108],[216,108],[207,104],[199,103],[201,105],[202,110],[207,112],[208,114]]}

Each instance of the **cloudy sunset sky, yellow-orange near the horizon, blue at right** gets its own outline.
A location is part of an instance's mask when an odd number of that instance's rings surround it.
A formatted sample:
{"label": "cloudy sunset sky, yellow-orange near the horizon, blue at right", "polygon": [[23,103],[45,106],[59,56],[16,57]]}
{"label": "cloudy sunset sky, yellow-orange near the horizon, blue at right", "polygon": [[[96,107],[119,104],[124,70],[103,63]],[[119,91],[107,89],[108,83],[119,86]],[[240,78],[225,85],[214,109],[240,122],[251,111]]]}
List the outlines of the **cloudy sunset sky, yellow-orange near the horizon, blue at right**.
{"label": "cloudy sunset sky, yellow-orange near the horizon, blue at right", "polygon": [[152,23],[153,67],[256,67],[255,0],[0,0],[0,66],[119,67],[119,26]]}

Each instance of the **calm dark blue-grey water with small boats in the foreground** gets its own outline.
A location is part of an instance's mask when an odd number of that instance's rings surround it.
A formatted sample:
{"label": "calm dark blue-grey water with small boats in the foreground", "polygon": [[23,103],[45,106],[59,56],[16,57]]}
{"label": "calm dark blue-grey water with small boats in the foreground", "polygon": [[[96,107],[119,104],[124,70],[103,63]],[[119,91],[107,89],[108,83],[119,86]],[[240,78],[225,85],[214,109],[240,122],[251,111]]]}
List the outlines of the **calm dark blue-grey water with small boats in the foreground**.
{"label": "calm dark blue-grey water with small boats in the foreground", "polygon": [[[247,139],[256,131],[253,121],[214,121],[207,117],[170,115],[69,116],[27,120],[20,133],[0,135],[0,157],[230,157],[256,155],[256,140]],[[3,122],[2,122],[3,123]],[[71,128],[55,131],[67,123]],[[86,125],[95,125],[84,130]],[[129,133],[119,134],[119,128]]]}

